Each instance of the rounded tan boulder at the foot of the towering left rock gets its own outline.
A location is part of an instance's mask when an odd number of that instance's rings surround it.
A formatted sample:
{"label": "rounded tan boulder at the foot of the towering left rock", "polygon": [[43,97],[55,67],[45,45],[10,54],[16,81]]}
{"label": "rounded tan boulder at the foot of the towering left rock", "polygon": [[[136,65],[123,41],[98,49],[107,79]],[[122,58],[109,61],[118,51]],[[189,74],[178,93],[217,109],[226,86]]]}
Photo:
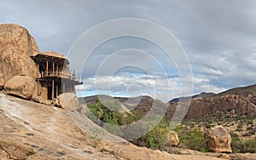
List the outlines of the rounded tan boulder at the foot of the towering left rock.
{"label": "rounded tan boulder at the foot of the towering left rock", "polygon": [[15,76],[4,85],[7,94],[13,94],[29,100],[37,93],[37,83],[32,77]]}

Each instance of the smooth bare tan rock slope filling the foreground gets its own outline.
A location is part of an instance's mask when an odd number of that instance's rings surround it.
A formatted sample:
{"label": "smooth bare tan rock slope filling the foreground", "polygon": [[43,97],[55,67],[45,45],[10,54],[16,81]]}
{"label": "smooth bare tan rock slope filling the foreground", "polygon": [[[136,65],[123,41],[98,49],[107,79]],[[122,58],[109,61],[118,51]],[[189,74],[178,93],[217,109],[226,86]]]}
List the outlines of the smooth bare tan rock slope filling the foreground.
{"label": "smooth bare tan rock slope filling the foreground", "polygon": [[[74,114],[79,113],[74,112]],[[220,159],[222,153],[174,148],[179,154],[99,140],[73,123],[69,112],[0,93],[0,159]],[[229,157],[253,159],[253,154]],[[235,158],[236,157],[236,158]],[[239,159],[239,158],[238,158]]]}

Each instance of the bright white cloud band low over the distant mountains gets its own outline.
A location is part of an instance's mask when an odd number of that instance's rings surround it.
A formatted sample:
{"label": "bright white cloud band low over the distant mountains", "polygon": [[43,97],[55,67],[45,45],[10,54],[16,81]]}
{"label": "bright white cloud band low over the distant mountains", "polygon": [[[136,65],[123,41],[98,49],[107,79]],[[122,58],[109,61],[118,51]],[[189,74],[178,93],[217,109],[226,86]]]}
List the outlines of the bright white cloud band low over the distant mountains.
{"label": "bright white cloud band low over the distant mountains", "polygon": [[[189,77],[188,77],[189,79]],[[201,91],[218,93],[224,91],[210,83],[207,77],[193,77],[194,94]],[[156,76],[156,75],[131,75],[123,73],[119,76],[87,77],[84,85],[76,87],[79,96],[85,94],[109,94],[112,96],[136,97],[149,95],[153,98],[168,101],[181,96],[181,89],[189,90],[189,86],[181,86],[180,77]],[[189,96],[184,94],[183,96]]]}

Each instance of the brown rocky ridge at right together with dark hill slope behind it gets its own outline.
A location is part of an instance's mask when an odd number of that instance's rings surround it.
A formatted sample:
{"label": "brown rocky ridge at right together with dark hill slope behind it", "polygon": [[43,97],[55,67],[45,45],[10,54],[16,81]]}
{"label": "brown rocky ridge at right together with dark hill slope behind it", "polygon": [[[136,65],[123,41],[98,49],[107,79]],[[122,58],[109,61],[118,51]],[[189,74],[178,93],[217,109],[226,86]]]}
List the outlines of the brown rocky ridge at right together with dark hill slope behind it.
{"label": "brown rocky ridge at right together with dark hill slope behind it", "polygon": [[[208,96],[208,97],[207,97]],[[188,98],[187,98],[188,99]],[[167,117],[172,117],[178,99],[169,103]],[[186,118],[209,115],[256,116],[256,85],[229,89],[219,94],[198,94],[192,97]]]}

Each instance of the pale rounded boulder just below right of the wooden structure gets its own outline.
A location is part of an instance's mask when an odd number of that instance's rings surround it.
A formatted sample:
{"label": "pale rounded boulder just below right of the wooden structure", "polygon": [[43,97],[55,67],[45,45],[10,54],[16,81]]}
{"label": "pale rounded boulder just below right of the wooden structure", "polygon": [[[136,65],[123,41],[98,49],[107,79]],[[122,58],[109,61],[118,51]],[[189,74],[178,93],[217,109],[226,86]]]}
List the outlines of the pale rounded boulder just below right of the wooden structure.
{"label": "pale rounded boulder just below right of the wooden structure", "polygon": [[76,111],[79,106],[79,99],[76,94],[64,93],[57,96],[57,103],[67,111]]}

